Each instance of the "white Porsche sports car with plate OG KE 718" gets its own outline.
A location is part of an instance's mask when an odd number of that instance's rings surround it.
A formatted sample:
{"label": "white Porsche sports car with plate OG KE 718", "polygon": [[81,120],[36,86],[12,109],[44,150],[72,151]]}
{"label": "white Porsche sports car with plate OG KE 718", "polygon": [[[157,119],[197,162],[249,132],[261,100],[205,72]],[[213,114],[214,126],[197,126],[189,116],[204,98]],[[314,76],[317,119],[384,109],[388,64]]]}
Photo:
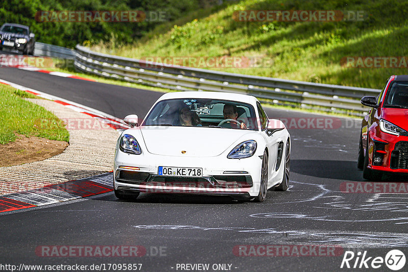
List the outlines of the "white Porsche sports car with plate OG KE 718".
{"label": "white Porsche sports car with plate OG KE 718", "polygon": [[220,92],[160,97],[142,123],[124,122],[115,149],[114,192],[227,195],[262,202],[289,186],[290,135],[257,98]]}

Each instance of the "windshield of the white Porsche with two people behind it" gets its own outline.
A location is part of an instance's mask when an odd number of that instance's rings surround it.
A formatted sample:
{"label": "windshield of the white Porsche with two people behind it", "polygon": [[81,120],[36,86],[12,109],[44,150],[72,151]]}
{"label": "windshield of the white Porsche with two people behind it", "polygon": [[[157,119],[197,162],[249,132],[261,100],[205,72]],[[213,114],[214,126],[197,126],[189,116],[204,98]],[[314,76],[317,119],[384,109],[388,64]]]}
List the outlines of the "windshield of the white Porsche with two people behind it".
{"label": "windshield of the white Porsche with two people behind it", "polygon": [[142,126],[195,126],[258,130],[253,106],[208,98],[162,100]]}

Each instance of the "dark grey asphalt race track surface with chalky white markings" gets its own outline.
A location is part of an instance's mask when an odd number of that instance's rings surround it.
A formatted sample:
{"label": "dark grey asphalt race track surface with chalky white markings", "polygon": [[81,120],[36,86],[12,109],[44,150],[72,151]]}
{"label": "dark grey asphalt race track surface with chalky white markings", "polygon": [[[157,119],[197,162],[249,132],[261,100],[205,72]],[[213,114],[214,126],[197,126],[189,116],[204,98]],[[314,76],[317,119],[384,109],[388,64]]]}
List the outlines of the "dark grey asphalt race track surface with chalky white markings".
{"label": "dark grey asphalt race track surface with chalky white markings", "polygon": [[[162,95],[15,68],[0,68],[0,78],[121,119],[127,114],[144,117]],[[169,194],[141,194],[132,202],[108,193],[3,213],[0,262],[104,264],[106,271],[108,264],[140,263],[141,271],[200,270],[186,264],[209,264],[208,271],[351,271],[359,269],[340,268],[346,251],[356,256],[367,251],[366,256],[373,259],[399,249],[408,256],[406,194],[341,192],[346,182],[364,181],[356,169],[359,122],[268,107],[266,112],[269,118],[295,123],[302,118],[310,123],[330,118],[334,124],[324,129],[289,126],[291,186],[287,192],[268,191],[264,203]],[[390,176],[386,182],[397,181]],[[249,245],[275,246],[271,252],[278,256],[253,256],[265,252]],[[291,245],[287,254],[282,245]],[[320,253],[310,250],[311,245],[318,245]],[[137,246],[143,256],[44,257],[39,251],[42,246]],[[239,246],[246,248],[239,251]],[[293,251],[301,246],[309,250],[297,256]],[[244,256],[248,254],[252,256]],[[356,257],[350,265],[355,261]],[[391,271],[385,263],[375,270]]]}

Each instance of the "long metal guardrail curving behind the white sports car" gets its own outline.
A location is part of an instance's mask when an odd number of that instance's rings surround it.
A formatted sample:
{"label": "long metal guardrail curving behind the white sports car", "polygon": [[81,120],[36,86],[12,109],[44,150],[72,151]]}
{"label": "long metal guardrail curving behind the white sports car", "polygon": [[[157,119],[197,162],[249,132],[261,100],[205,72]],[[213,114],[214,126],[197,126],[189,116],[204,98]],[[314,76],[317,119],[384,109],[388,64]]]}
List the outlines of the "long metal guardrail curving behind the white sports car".
{"label": "long metal guardrail curving behind the white sports car", "polygon": [[362,116],[369,108],[360,103],[380,90],[317,84],[304,81],[226,73],[166,65],[98,53],[77,45],[75,69],[104,77],[178,91],[243,93],[275,104],[300,104],[327,112]]}

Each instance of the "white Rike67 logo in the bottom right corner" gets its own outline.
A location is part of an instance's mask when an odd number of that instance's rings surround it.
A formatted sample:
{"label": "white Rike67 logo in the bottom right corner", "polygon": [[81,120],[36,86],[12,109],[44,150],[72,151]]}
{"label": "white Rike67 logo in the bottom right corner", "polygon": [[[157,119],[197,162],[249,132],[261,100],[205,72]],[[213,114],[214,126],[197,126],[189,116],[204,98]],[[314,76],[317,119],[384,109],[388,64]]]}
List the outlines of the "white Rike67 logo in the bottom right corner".
{"label": "white Rike67 logo in the bottom right corner", "polygon": [[405,265],[405,255],[399,250],[391,250],[385,258],[380,256],[372,257],[367,255],[367,251],[361,251],[355,254],[352,251],[346,251],[343,256],[340,268],[380,268],[384,264],[391,270],[400,270]]}

